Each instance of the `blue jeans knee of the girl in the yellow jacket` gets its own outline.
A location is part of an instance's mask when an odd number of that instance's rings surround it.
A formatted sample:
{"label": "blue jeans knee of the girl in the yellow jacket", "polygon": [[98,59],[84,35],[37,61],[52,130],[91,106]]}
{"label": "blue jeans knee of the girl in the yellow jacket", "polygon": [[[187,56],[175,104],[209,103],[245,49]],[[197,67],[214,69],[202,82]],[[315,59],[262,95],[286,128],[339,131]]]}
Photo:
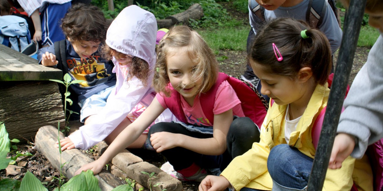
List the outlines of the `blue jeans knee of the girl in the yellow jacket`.
{"label": "blue jeans knee of the girl in the yellow jacket", "polygon": [[305,190],[313,160],[287,144],[275,146],[267,159],[267,169],[273,179],[273,190]]}

